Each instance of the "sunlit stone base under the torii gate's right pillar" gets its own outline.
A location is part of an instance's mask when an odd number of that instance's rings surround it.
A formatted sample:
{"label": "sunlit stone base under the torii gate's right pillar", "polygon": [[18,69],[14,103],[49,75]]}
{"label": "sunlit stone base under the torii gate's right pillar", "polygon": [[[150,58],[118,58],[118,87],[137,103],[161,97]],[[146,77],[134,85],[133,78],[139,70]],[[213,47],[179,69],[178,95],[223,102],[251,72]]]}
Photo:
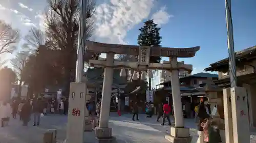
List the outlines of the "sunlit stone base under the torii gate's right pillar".
{"label": "sunlit stone base under the torii gate's right pillar", "polygon": [[165,135],[165,139],[173,143],[190,143],[192,137],[188,128],[170,127],[170,135]]}

